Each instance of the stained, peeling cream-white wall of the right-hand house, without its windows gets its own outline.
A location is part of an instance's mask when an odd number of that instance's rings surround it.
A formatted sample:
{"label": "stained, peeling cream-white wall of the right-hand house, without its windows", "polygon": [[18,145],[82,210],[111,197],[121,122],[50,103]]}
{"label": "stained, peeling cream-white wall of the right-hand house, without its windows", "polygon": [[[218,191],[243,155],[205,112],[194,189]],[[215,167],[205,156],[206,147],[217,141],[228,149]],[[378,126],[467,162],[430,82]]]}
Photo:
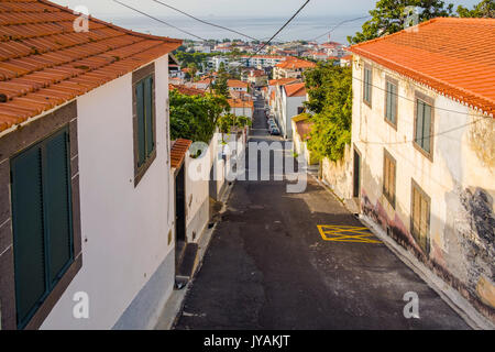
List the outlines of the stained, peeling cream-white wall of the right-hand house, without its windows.
{"label": "stained, peeling cream-white wall of the right-hand house, without its windows", "polygon": [[[353,69],[355,77],[363,77],[364,62],[358,57]],[[384,120],[386,75],[399,82],[397,130]],[[493,242],[487,243],[481,235],[481,232],[490,233],[493,229],[473,228],[472,223],[476,212],[486,211],[492,216],[494,212],[493,118],[479,117],[474,110],[377,64],[373,64],[373,85],[383,89],[373,87],[373,108],[370,108],[362,102],[362,80],[353,80],[352,142],[362,154],[362,208],[374,215],[384,227],[396,229],[405,242],[419,250],[410,234],[414,179],[431,198],[431,250],[427,258],[459,279],[473,296],[488,301],[490,298],[477,292],[477,286],[487,280],[487,285],[494,287],[493,282],[490,283],[494,263],[483,260],[482,255],[490,253]],[[435,99],[433,134],[440,135],[433,139],[432,161],[411,142],[415,91]],[[483,120],[475,122],[479,119]],[[384,148],[397,163],[395,209],[383,195]],[[476,194],[476,189],[483,190],[487,201]],[[485,208],[480,208],[482,206]],[[470,258],[474,243],[480,254],[477,261]]]}

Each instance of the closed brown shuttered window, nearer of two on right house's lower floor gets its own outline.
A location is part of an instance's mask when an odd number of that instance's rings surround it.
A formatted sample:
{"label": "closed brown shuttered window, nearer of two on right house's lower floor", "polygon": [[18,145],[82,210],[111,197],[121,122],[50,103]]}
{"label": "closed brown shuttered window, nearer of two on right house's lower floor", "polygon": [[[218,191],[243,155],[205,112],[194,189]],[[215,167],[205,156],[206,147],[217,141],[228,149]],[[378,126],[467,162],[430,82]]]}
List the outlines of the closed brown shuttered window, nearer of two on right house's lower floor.
{"label": "closed brown shuttered window, nearer of two on right house's lower floor", "polygon": [[[422,249],[426,254],[428,254],[430,252],[431,198],[414,179],[411,179],[410,197],[410,233],[415,238],[416,243]],[[419,204],[417,202],[418,200]],[[426,207],[425,210],[424,206]],[[417,216],[419,216],[418,220],[416,220]],[[422,223],[425,227],[425,231],[421,231]]]}

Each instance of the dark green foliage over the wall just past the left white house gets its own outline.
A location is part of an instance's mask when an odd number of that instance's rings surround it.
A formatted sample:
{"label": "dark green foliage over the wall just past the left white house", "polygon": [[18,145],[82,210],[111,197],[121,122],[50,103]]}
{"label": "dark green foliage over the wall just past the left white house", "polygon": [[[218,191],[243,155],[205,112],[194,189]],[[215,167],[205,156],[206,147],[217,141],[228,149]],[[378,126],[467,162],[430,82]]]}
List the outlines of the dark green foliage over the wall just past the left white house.
{"label": "dark green foliage over the wall just past the left white house", "polygon": [[209,143],[219,118],[230,110],[224,97],[186,96],[170,91],[170,139],[187,139]]}

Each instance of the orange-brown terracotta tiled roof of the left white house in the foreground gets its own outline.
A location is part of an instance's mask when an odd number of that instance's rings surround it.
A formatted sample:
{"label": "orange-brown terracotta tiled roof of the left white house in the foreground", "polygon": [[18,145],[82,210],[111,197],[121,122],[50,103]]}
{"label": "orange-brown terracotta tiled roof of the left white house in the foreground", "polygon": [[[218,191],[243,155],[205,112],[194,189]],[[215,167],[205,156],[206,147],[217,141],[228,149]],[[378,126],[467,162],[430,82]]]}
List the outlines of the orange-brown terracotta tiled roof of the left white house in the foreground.
{"label": "orange-brown terracotta tiled roof of the left white house in the foreground", "polygon": [[180,40],[132,32],[46,0],[0,2],[0,132],[177,48]]}

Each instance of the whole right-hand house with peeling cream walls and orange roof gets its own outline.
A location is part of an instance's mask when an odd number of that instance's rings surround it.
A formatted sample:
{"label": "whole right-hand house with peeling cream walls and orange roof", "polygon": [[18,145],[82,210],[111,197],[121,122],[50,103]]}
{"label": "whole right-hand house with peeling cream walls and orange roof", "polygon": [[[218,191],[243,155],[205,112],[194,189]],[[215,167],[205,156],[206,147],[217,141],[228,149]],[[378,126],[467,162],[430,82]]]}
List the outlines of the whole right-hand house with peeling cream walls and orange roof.
{"label": "whole right-hand house with peeling cream walls and orange roof", "polygon": [[433,19],[351,47],[352,196],[495,318],[494,19]]}

